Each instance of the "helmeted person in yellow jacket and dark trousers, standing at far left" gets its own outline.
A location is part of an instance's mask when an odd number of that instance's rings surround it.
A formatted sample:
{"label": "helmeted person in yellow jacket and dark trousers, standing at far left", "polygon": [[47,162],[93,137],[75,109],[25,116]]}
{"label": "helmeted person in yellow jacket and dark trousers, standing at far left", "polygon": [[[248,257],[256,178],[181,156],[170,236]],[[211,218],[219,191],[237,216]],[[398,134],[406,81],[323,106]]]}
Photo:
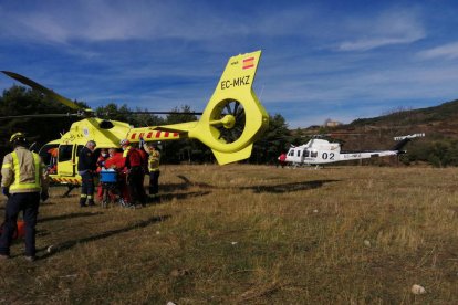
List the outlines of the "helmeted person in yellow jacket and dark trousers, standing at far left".
{"label": "helmeted person in yellow jacket and dark trousers, standing at far left", "polygon": [[0,259],[10,257],[10,244],[15,231],[18,214],[23,212],[25,223],[25,259],[35,260],[35,225],[40,199],[45,201],[48,179],[45,165],[40,156],[25,148],[22,133],[11,136],[14,150],[3,158],[1,167],[2,193],[8,197],[4,211],[4,228],[0,238]]}

